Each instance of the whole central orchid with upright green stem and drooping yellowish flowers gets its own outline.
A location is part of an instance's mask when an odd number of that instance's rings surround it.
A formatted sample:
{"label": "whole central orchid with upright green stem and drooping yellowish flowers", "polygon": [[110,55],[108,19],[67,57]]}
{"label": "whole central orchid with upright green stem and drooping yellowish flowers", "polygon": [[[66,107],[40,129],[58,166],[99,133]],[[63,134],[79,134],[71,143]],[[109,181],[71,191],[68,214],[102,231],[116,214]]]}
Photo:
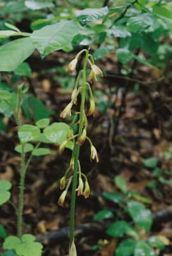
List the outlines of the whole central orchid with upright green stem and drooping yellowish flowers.
{"label": "whole central orchid with upright green stem and drooping yellowish flowers", "polygon": [[[84,173],[82,173],[81,167],[80,167],[80,161],[79,161],[79,154],[80,154],[80,147],[83,145],[85,140],[89,141],[90,144],[90,161],[96,160],[99,161],[99,158],[97,156],[97,150],[92,145],[92,141],[87,137],[87,116],[93,115],[95,111],[95,102],[94,97],[92,95],[92,90],[90,88],[90,84],[87,82],[87,80],[92,83],[93,81],[97,81],[96,76],[103,76],[103,72],[99,67],[97,67],[94,64],[94,59],[91,54],[89,54],[89,50],[82,50],[78,52],[75,59],[69,63],[68,71],[70,73],[76,71],[76,64],[78,62],[78,58],[81,54],[85,54],[85,61],[83,63],[83,69],[80,70],[78,77],[76,79],[75,88],[73,90],[73,93],[71,95],[71,102],[64,108],[64,110],[61,113],[61,117],[65,118],[68,116],[70,118],[71,116],[71,108],[74,104],[77,102],[78,94],[81,93],[81,105],[80,105],[80,112],[75,113],[75,118],[73,119],[73,122],[71,122],[70,129],[68,132],[68,137],[65,141],[61,143],[59,146],[59,154],[62,154],[64,152],[64,148],[68,144],[69,141],[74,142],[73,152],[71,156],[71,161],[69,163],[69,168],[66,170],[66,173],[61,179],[61,189],[65,190],[62,192],[62,195],[59,198],[58,204],[62,207],[64,206],[64,200],[66,197],[66,194],[68,192],[70,184],[72,184],[72,193],[71,193],[71,211],[70,211],[70,228],[69,228],[69,237],[70,237],[70,246],[69,246],[69,255],[76,255],[76,248],[74,243],[74,225],[75,225],[75,200],[76,200],[76,192],[77,195],[83,195],[85,198],[88,198],[90,195],[90,187],[89,182],[87,180],[87,177]],[[87,65],[90,65],[90,74],[89,77],[86,77],[86,68]],[[82,80],[82,86],[80,86],[80,81]],[[90,108],[87,113],[87,116],[85,114],[85,91],[89,90],[89,101],[90,101]],[[77,122],[78,121],[78,122]],[[78,124],[78,134],[73,134],[73,125]],[[69,171],[73,170],[73,173],[71,177],[69,177]]]}

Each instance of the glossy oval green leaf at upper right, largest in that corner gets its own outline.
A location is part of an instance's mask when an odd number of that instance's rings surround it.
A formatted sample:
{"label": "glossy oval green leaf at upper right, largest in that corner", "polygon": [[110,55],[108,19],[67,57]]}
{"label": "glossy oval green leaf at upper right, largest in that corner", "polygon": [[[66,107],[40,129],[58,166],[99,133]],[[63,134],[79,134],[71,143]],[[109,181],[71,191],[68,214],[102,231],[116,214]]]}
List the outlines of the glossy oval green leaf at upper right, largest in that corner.
{"label": "glossy oval green leaf at upper right, largest in that corner", "polygon": [[154,13],[143,13],[127,20],[127,28],[132,32],[141,32],[152,26],[156,20]]}

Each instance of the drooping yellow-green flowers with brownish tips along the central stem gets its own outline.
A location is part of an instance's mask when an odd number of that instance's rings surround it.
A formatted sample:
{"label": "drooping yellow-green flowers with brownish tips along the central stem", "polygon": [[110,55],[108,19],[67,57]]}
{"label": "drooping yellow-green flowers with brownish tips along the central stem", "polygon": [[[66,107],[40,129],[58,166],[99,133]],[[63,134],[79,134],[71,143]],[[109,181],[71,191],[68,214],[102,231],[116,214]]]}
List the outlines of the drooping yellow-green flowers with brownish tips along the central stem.
{"label": "drooping yellow-green flowers with brownish tips along the central stem", "polygon": [[[73,107],[73,105],[77,104],[77,97],[79,95],[79,93],[82,93],[82,104],[80,106],[80,112],[75,113],[75,118],[73,119],[73,122],[71,122],[69,131],[68,131],[68,136],[66,138],[66,140],[64,140],[61,145],[59,146],[58,152],[59,154],[62,154],[64,152],[64,148],[66,148],[66,145],[68,144],[69,141],[73,141],[75,147],[73,149],[73,155],[71,157],[71,161],[70,161],[70,166],[68,168],[68,170],[66,171],[64,177],[62,177],[61,179],[61,184],[60,184],[60,188],[64,189],[66,188],[63,192],[62,195],[59,198],[59,202],[58,204],[61,205],[63,207],[64,205],[64,200],[66,198],[66,194],[68,192],[68,188],[71,184],[71,181],[74,179],[73,177],[75,175],[77,175],[75,172],[78,173],[78,187],[75,188],[75,190],[77,191],[78,196],[83,195],[85,196],[85,198],[88,198],[90,195],[90,187],[89,187],[89,182],[87,180],[87,177],[81,172],[81,168],[80,168],[80,163],[76,157],[76,148],[77,147],[81,147],[83,145],[83,143],[85,143],[85,141],[89,141],[90,143],[90,161],[96,161],[97,163],[99,162],[99,157],[97,156],[97,150],[94,147],[94,145],[92,145],[92,141],[87,137],[87,116],[94,116],[95,115],[95,102],[94,102],[94,97],[92,95],[92,89],[90,87],[90,84],[93,83],[93,81],[97,81],[97,77],[96,76],[101,76],[103,77],[103,72],[101,71],[101,69],[99,67],[97,67],[94,63],[94,59],[92,58],[92,55],[89,54],[89,50],[82,50],[80,51],[74,60],[72,60],[69,65],[67,70],[70,73],[76,72],[76,64],[78,63],[78,57],[80,56],[80,54],[82,54],[83,52],[85,52],[85,63],[84,63],[84,68],[83,70],[80,71],[80,73],[78,74],[78,77],[76,79],[76,83],[75,83],[75,88],[73,90],[73,93],[71,94],[71,102],[69,102],[69,104],[66,106],[66,108],[64,108],[64,110],[61,113],[61,118],[66,118],[66,116],[68,116],[68,118],[70,118],[71,116],[71,108]],[[86,67],[87,64],[90,65],[90,74],[87,77],[87,81],[89,81],[89,83],[87,83],[85,76],[86,76]],[[80,86],[80,83],[82,81],[82,86]],[[89,111],[87,111],[87,116],[85,115],[85,109],[84,109],[84,104],[85,104],[85,90],[89,89],[89,102],[90,102],[90,106],[89,106]],[[79,116],[79,118],[78,118]],[[79,124],[79,132],[78,134],[74,135],[73,134],[73,125],[75,124]],[[75,140],[75,138],[77,137],[77,139]],[[78,163],[77,163],[78,162]],[[71,170],[71,172],[73,172],[73,176],[71,176],[69,179],[67,179],[68,175],[69,175],[69,170]]]}

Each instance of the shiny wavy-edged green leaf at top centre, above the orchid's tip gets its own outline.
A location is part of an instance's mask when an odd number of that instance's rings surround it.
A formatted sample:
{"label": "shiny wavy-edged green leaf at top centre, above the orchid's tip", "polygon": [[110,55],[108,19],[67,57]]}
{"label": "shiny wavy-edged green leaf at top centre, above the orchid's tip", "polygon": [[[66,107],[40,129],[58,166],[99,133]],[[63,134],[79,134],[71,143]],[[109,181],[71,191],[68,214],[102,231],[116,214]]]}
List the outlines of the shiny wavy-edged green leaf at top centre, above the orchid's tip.
{"label": "shiny wavy-edged green leaf at top centre, above the orchid's tip", "polygon": [[75,12],[77,20],[80,24],[85,25],[88,22],[102,19],[108,14],[108,7],[103,8],[87,8],[84,10],[78,10]]}

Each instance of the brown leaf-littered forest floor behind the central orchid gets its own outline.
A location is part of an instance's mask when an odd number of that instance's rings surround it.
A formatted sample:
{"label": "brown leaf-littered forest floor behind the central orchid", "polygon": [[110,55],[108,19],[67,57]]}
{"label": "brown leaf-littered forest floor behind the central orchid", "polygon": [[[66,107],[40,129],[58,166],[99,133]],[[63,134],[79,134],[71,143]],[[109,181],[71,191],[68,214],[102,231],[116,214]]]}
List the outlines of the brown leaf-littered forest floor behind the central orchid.
{"label": "brown leaf-littered forest floor behind the central orchid", "polygon": [[[61,70],[73,57],[73,54],[59,51],[41,61],[35,52],[28,60],[33,72],[31,80],[25,78],[25,84],[29,84],[29,92],[43,100],[48,110],[55,111],[51,122],[69,122],[62,120],[59,114],[69,103],[72,79],[75,77]],[[167,70],[166,78],[161,79],[159,72],[136,62],[133,63],[133,74],[119,75],[121,67],[111,54],[97,65],[106,70],[106,75],[92,85],[97,109],[95,118],[89,118],[88,134],[97,148],[100,161],[90,163],[89,148],[82,146],[80,163],[89,179],[90,197],[76,198],[78,255],[114,255],[120,239],[110,237],[105,232],[112,221],[96,223],[93,217],[102,209],[110,209],[114,214],[119,211],[117,204],[102,196],[104,191],[121,193],[113,182],[115,175],[125,179],[127,189],[149,199],[147,207],[154,214],[154,224],[149,233],[141,230],[141,236],[164,237],[166,249],[159,255],[172,255],[172,189],[169,186],[172,177],[167,174],[172,172],[170,74]],[[3,79],[6,83],[6,76]],[[0,179],[13,183],[11,199],[17,204],[20,180],[20,156],[14,151],[18,143],[17,129],[13,120],[6,119],[6,124],[8,133],[1,132],[0,138]],[[66,149],[59,156],[57,145],[48,147],[52,154],[33,157],[26,175],[24,232],[35,234],[38,241],[44,244],[44,256],[68,255],[66,228],[69,226],[71,194],[68,193],[64,208],[59,207],[57,202],[61,195],[59,180],[68,168],[71,151]],[[150,157],[158,160],[157,166],[162,170],[161,179],[152,174],[152,168],[143,164],[143,160]],[[163,180],[169,180],[169,184]],[[148,187],[148,182],[153,182],[154,188]],[[121,213],[120,219],[131,221],[125,212]],[[15,234],[16,214],[10,204],[1,207],[1,223],[8,234]],[[104,239],[108,240],[108,244],[103,245]],[[98,241],[102,248],[96,252],[92,246]]]}

